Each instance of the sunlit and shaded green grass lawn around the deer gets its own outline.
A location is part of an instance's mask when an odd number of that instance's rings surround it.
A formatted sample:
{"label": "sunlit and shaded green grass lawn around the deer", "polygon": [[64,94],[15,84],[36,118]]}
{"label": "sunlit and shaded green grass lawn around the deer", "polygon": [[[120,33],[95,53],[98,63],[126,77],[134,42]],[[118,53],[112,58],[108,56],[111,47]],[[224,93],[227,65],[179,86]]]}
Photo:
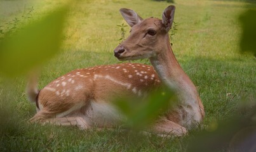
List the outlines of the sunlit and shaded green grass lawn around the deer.
{"label": "sunlit and shaded green grass lawn around the deer", "polygon": [[[22,3],[21,3],[22,2]],[[1,24],[21,16],[31,6],[33,16],[66,1],[0,1]],[[161,17],[170,3],[142,1],[77,1],[71,6],[62,51],[41,68],[39,87],[76,68],[119,63],[112,50],[125,23],[119,8],[131,8],[143,18]],[[173,51],[182,68],[199,86],[205,105],[204,124],[238,115],[239,102],[255,101],[255,57],[239,53],[238,16],[255,4],[241,1],[176,0]],[[10,9],[10,7],[13,9]],[[128,27],[126,28],[129,31]],[[144,61],[136,61],[144,62]],[[116,130],[27,124],[36,112],[25,96],[25,77],[0,77],[0,151],[185,151],[189,136],[165,139]]]}

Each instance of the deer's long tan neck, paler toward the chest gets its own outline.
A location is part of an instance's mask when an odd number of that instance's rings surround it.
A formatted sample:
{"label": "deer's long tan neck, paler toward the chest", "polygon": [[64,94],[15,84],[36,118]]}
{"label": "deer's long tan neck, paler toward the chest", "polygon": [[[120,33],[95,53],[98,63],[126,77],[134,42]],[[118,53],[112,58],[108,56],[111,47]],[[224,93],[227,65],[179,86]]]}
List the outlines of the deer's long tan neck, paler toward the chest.
{"label": "deer's long tan neck, paler toward the chest", "polygon": [[182,103],[198,103],[196,87],[182,70],[170,47],[169,38],[167,39],[166,45],[161,48],[163,49],[161,53],[150,59],[151,64],[162,82],[171,89],[175,89],[181,96]]}

